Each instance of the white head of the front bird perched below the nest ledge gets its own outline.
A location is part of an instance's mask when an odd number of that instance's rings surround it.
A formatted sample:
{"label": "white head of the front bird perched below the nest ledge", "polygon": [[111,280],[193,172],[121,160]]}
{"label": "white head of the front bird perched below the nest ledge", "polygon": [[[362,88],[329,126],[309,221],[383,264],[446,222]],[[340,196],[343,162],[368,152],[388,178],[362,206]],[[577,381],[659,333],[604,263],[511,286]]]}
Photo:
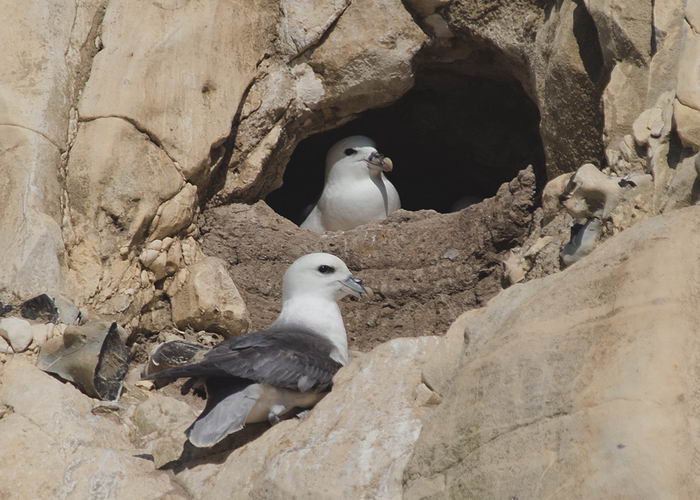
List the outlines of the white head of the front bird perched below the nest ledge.
{"label": "white head of the front bird perched below the nest ledge", "polygon": [[311,295],[340,300],[347,295],[366,294],[362,280],[354,277],[345,262],[328,253],[310,253],[299,257],[284,273],[282,300]]}

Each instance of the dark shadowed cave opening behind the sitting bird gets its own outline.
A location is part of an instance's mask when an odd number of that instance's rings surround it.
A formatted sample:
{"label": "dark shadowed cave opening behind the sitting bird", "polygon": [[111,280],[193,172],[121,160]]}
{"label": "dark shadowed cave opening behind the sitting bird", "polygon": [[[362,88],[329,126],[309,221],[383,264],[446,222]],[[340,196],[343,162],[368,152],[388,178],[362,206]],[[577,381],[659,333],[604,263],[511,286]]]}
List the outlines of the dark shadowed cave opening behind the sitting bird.
{"label": "dark shadowed cave opening behind the sitting bird", "polygon": [[394,104],[299,143],[268,204],[300,223],[321,194],[326,152],[350,135],[393,160],[388,177],[407,210],[449,212],[493,196],[529,164],[545,180],[539,112],[519,83],[431,72]]}

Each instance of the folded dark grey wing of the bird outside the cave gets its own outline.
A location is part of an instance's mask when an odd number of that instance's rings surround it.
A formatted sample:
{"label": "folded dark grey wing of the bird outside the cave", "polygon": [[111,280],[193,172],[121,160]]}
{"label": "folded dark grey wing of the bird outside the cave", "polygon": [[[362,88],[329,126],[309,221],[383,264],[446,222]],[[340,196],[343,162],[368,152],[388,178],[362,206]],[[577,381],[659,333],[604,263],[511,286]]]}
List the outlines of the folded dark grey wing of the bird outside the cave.
{"label": "folded dark grey wing of the bird outside the cave", "polygon": [[333,344],[303,329],[276,328],[225,340],[194,364],[149,377],[238,377],[294,391],[321,392],[342,366]]}

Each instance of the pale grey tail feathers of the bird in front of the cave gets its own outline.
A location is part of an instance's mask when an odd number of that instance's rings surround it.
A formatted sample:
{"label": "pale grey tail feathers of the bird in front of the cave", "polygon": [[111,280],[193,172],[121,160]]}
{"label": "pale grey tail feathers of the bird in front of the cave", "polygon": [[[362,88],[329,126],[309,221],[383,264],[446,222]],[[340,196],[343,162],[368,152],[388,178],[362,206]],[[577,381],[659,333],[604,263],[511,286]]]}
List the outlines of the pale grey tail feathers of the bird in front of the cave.
{"label": "pale grey tail feathers of the bird in front of the cave", "polygon": [[240,379],[207,380],[207,406],[185,431],[198,448],[214,446],[243,428],[260,394],[260,385]]}

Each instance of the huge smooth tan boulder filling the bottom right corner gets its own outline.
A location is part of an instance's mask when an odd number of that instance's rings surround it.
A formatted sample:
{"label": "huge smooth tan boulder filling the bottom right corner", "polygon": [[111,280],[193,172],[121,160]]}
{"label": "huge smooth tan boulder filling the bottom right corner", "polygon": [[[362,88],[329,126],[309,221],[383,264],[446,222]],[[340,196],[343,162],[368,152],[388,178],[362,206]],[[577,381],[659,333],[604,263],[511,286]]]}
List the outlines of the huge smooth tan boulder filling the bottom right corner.
{"label": "huge smooth tan boulder filling the bottom right corner", "polygon": [[471,313],[405,498],[693,498],[700,210]]}

